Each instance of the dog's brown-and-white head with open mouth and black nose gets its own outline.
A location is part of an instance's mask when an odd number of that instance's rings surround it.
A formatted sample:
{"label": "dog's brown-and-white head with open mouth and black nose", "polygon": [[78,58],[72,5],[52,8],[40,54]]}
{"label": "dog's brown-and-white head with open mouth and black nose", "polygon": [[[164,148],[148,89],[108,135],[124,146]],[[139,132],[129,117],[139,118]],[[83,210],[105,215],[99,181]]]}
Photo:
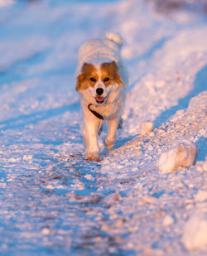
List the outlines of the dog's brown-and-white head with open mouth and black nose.
{"label": "dog's brown-and-white head with open mouth and black nose", "polygon": [[76,90],[94,98],[97,104],[104,104],[108,95],[118,85],[124,85],[118,74],[115,61],[103,62],[100,65],[84,63],[77,77]]}

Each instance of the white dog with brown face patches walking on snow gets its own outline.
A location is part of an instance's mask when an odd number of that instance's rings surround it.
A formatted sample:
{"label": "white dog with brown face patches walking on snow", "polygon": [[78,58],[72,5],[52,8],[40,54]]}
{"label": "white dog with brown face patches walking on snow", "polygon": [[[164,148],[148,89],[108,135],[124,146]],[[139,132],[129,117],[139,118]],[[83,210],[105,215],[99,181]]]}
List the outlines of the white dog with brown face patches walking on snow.
{"label": "white dog with brown face patches walking on snow", "polygon": [[121,58],[122,37],[115,32],[106,38],[86,41],[79,47],[76,69],[76,91],[80,95],[84,116],[86,158],[99,162],[98,136],[103,121],[108,123],[104,140],[112,149],[118,128],[122,128],[122,112],[128,87],[128,71]]}

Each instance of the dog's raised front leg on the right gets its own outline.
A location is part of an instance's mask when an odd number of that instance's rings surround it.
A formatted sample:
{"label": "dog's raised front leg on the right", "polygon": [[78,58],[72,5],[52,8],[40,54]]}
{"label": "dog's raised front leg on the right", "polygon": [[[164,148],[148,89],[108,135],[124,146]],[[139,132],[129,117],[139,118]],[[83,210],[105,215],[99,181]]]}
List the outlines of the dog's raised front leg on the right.
{"label": "dog's raised front leg on the right", "polygon": [[105,144],[106,147],[108,147],[108,150],[112,149],[115,143],[115,137],[116,137],[116,132],[118,128],[118,118],[114,118],[112,120],[108,120],[108,132],[107,132],[107,137],[105,138]]}

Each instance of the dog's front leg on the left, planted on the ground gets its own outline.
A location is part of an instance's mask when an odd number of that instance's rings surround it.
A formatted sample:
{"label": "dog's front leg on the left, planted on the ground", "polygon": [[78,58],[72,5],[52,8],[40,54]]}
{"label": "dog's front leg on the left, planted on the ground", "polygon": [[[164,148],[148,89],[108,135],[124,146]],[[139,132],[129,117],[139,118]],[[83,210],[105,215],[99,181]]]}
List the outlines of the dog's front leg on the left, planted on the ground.
{"label": "dog's front leg on the left, planted on the ground", "polygon": [[99,162],[101,161],[98,144],[99,123],[94,122],[94,120],[87,120],[84,123],[84,129],[87,159]]}

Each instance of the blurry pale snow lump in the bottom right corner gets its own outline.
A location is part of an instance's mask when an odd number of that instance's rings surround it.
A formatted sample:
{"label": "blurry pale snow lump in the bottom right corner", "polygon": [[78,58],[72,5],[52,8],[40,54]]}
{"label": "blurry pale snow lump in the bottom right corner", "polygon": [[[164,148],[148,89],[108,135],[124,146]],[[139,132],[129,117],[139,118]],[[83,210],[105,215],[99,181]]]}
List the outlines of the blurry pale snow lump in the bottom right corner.
{"label": "blurry pale snow lump in the bottom right corner", "polygon": [[188,250],[200,249],[207,244],[207,221],[199,216],[192,216],[185,224],[182,243]]}

